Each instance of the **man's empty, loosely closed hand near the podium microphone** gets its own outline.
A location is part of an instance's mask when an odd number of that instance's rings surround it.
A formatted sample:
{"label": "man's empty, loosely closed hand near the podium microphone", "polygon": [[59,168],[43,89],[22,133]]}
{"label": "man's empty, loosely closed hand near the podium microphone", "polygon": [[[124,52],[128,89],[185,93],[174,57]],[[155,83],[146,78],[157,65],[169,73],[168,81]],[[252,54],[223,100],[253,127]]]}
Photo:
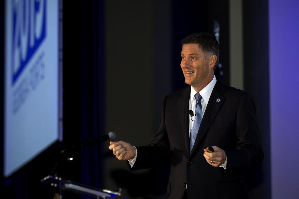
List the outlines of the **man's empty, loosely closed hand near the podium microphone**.
{"label": "man's empty, loosely closed hand near the podium microphone", "polygon": [[113,154],[118,160],[131,160],[136,156],[135,147],[124,141],[111,141],[109,149],[113,151]]}

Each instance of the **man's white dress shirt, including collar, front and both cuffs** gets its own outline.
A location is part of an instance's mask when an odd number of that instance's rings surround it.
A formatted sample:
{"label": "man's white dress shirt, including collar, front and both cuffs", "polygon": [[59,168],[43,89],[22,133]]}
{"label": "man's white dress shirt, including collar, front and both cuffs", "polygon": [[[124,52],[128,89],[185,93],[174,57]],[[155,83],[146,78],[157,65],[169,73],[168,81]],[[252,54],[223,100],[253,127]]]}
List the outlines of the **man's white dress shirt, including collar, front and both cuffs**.
{"label": "man's white dress shirt, including collar, front and both cuffs", "polygon": [[[210,99],[210,96],[211,96],[211,93],[212,93],[212,90],[214,89],[214,86],[216,84],[216,77],[214,75],[214,78],[212,79],[212,81],[206,85],[206,87],[204,87],[200,92],[199,94],[202,96],[202,99],[200,100],[201,104],[202,104],[202,117],[205,113],[205,110],[206,110],[206,106],[208,104],[208,101]],[[194,90],[194,88],[191,86],[191,92],[190,92],[190,98],[189,98],[189,110],[192,110],[193,113],[195,113],[195,104],[196,104],[196,99],[194,97],[194,95],[196,94],[197,92]],[[192,116],[192,119],[191,119],[191,115],[189,115],[189,136],[190,136],[190,132],[191,132],[191,129],[192,129],[192,126],[193,126],[193,121],[195,119],[196,115]],[[135,146],[133,146],[135,147]],[[135,147],[136,148],[136,147]],[[136,149],[136,155],[135,155],[135,158],[134,159],[131,159],[129,160],[129,164],[131,165],[131,168],[133,167],[135,161],[136,161],[136,157],[137,157],[137,149]],[[224,169],[226,169],[226,161],[227,159],[225,159],[225,163],[224,164],[221,164],[220,167],[223,167]]]}

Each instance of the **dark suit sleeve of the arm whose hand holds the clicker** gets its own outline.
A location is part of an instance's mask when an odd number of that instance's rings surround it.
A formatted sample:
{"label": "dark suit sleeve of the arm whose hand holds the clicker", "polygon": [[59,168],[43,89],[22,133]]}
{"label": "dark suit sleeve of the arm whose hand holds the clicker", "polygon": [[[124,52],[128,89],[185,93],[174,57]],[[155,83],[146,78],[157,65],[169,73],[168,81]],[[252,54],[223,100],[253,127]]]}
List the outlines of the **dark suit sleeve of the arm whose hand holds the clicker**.
{"label": "dark suit sleeve of the arm whose hand holds the clicker", "polygon": [[245,94],[236,118],[236,147],[225,149],[226,171],[253,167],[263,161],[262,139],[253,100]]}

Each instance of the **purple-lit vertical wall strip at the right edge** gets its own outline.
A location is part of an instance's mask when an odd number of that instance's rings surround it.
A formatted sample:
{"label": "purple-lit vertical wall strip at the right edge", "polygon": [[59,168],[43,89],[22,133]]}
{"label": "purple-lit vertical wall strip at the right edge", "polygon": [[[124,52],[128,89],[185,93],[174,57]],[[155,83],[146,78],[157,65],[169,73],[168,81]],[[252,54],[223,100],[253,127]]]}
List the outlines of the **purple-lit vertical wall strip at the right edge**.
{"label": "purple-lit vertical wall strip at the right edge", "polygon": [[268,3],[272,198],[299,198],[299,1]]}

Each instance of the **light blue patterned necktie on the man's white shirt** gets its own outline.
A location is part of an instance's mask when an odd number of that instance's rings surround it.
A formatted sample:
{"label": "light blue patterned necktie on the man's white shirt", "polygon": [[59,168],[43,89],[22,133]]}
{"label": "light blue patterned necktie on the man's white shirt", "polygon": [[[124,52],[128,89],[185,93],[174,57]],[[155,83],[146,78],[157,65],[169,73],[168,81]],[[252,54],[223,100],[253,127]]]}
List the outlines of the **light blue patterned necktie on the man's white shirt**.
{"label": "light blue patterned necktie on the man's white shirt", "polygon": [[194,97],[196,99],[195,120],[193,122],[193,126],[192,126],[192,129],[190,132],[190,152],[193,148],[200,123],[202,122],[202,103],[200,102],[200,99],[202,99],[202,96],[199,93],[196,93],[194,95]]}

